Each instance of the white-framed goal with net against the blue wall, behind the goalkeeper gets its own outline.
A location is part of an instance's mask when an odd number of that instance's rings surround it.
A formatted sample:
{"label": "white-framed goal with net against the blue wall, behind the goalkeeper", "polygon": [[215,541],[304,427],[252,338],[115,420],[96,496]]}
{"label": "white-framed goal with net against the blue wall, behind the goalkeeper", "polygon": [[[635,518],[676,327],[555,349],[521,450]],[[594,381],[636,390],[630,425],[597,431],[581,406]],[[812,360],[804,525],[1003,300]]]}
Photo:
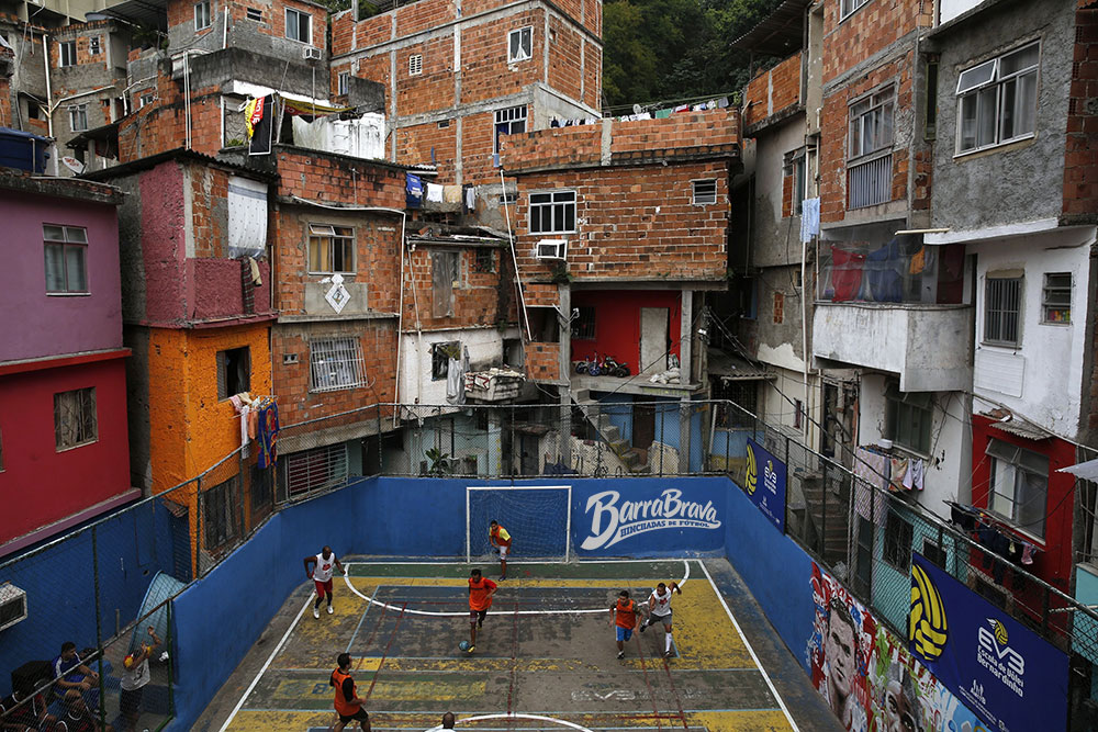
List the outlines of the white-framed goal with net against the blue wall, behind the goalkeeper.
{"label": "white-framed goal with net against the blue wall, behind the goalkeeper", "polygon": [[489,523],[512,537],[516,562],[568,562],[572,553],[572,486],[466,487],[466,562],[493,559]]}

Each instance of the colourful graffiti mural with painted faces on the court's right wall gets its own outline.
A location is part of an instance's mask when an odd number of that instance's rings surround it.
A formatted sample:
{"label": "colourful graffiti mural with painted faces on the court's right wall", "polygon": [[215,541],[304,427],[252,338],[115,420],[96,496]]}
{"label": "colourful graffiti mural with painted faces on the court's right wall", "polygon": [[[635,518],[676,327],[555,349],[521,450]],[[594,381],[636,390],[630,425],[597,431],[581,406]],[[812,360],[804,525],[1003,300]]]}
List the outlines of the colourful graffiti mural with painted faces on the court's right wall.
{"label": "colourful graffiti mural with painted faces on the court's right wall", "polygon": [[813,685],[849,732],[988,732],[894,635],[813,562]]}

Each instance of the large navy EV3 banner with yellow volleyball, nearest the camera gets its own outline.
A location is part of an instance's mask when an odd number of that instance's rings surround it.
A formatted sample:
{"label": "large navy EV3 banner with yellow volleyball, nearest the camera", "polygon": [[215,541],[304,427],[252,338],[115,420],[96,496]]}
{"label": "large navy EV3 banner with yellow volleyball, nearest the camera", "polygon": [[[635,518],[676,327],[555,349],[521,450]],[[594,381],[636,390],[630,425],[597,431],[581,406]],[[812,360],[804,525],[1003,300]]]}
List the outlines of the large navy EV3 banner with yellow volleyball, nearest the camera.
{"label": "large navy EV3 banner with yellow volleyball, nearest the camera", "polygon": [[988,729],[1067,728],[1067,655],[917,553],[908,642]]}

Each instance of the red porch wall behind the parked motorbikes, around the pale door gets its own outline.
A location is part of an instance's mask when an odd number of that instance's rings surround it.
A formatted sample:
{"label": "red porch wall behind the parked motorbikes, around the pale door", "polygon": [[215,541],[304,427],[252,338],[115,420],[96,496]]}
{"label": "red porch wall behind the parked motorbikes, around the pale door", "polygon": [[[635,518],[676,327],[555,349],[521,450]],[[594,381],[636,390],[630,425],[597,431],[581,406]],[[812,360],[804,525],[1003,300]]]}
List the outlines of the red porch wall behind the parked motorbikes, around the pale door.
{"label": "red porch wall behind the parked motorbikes, around the pale door", "polygon": [[[679,356],[682,330],[682,293],[674,290],[603,290],[572,292],[572,307],[595,308],[595,339],[572,339],[572,360],[589,358],[598,351],[627,364],[631,373],[640,371],[640,308],[666,307],[671,323],[668,337],[671,352]],[[647,365],[647,364],[642,364]]]}

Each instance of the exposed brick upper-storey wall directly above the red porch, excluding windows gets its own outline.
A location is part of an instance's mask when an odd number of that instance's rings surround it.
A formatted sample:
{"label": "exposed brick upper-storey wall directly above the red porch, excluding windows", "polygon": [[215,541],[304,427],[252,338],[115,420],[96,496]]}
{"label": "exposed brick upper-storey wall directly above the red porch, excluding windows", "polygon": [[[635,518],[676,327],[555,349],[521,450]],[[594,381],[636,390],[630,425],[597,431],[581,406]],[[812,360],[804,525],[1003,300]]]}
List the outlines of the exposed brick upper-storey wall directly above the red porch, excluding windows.
{"label": "exposed brick upper-storey wall directly above the red porch, excluding windows", "polygon": [[[545,282],[560,266],[539,260],[545,238],[568,239],[575,281],[721,280],[727,268],[729,159],[554,170],[517,177],[515,234],[524,281]],[[716,182],[716,203],[693,203],[693,181]],[[576,194],[576,232],[531,234],[530,192]]]}

